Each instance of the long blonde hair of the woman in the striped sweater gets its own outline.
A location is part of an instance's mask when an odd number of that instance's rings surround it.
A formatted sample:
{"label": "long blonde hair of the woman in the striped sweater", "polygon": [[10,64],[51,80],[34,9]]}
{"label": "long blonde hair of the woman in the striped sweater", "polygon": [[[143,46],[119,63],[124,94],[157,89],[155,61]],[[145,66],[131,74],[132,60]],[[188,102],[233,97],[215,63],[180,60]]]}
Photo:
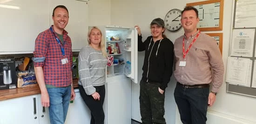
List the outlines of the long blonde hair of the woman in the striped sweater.
{"label": "long blonde hair of the woman in the striped sweater", "polygon": [[[90,37],[90,35],[91,35],[93,29],[97,29],[97,30],[99,30],[100,33],[101,33],[101,30],[100,30],[98,27],[96,27],[96,26],[90,27],[90,28],[89,28],[89,31],[88,31],[88,37],[87,37],[88,44],[91,44],[91,41],[90,41],[89,37]],[[101,52],[102,52],[103,56],[107,56],[107,53],[106,53],[106,46],[105,46],[105,39],[103,38],[102,33],[101,33],[101,42],[100,42],[100,44],[99,44],[99,47],[101,48]]]}

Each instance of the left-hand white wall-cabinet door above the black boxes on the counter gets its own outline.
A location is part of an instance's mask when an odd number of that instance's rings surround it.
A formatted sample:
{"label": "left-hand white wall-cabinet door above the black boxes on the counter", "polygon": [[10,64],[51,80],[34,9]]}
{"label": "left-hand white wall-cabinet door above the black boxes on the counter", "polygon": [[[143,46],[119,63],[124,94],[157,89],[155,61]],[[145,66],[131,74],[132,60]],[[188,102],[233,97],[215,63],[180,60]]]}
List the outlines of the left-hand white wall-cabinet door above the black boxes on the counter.
{"label": "left-hand white wall-cabinet door above the black boxes on the counter", "polygon": [[48,1],[0,1],[0,54],[32,53],[37,35],[49,28]]}

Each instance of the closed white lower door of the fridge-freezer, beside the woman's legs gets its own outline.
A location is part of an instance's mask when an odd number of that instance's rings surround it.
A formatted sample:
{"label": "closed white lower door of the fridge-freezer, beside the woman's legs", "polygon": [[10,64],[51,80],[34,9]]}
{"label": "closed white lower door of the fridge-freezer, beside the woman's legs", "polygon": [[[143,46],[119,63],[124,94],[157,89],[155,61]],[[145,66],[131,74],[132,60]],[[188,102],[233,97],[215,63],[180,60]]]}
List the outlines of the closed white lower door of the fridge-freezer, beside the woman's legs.
{"label": "closed white lower door of the fridge-freezer, beside the woman's legs", "polygon": [[107,78],[107,124],[131,124],[131,80],[124,75]]}

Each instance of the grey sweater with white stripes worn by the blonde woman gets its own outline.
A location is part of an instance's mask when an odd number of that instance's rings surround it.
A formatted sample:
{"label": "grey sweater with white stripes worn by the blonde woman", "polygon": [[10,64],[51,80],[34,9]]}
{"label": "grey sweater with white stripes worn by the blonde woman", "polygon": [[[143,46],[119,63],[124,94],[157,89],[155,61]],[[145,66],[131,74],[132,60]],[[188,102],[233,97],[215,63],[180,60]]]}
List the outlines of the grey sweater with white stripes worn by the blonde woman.
{"label": "grey sweater with white stripes worn by the blonde woman", "polygon": [[83,47],[78,55],[78,84],[82,85],[87,95],[95,92],[94,86],[105,85],[107,58],[101,51],[90,46]]}

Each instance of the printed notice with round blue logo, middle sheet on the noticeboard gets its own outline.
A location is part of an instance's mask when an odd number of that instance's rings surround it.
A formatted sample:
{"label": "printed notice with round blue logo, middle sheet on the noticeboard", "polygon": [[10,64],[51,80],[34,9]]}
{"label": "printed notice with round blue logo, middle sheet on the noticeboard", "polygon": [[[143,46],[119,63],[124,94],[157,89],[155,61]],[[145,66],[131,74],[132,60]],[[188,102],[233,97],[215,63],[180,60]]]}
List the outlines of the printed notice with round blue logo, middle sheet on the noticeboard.
{"label": "printed notice with round blue logo, middle sheet on the noticeboard", "polygon": [[231,56],[252,57],[255,29],[233,29]]}

